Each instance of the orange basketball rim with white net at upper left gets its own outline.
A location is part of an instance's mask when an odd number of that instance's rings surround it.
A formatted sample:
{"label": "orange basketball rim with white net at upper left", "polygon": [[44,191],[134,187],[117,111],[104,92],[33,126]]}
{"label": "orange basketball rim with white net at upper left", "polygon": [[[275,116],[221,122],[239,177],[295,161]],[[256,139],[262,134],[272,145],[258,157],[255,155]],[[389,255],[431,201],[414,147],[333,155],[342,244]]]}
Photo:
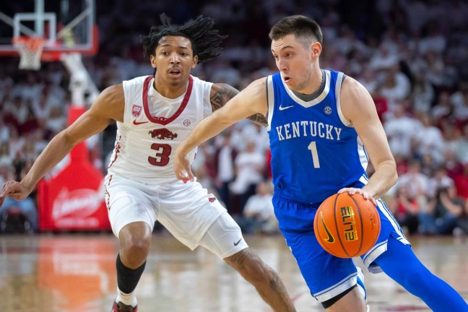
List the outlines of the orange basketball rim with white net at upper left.
{"label": "orange basketball rim with white net at upper left", "polygon": [[13,38],[13,45],[20,54],[20,69],[40,69],[40,55],[44,47],[44,39],[39,37]]}

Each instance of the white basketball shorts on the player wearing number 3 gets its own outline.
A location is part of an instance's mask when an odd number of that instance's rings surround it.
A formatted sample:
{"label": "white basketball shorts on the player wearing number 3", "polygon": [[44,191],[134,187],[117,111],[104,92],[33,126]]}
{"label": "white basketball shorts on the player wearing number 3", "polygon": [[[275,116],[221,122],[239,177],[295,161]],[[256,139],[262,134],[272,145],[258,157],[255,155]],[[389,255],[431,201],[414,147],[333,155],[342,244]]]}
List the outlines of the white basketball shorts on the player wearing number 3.
{"label": "white basketball shorts on the player wearing number 3", "polygon": [[196,181],[151,185],[114,174],[106,176],[105,190],[117,238],[127,224],[145,222],[153,230],[157,220],[192,250],[201,245],[225,258],[248,247],[234,219]]}

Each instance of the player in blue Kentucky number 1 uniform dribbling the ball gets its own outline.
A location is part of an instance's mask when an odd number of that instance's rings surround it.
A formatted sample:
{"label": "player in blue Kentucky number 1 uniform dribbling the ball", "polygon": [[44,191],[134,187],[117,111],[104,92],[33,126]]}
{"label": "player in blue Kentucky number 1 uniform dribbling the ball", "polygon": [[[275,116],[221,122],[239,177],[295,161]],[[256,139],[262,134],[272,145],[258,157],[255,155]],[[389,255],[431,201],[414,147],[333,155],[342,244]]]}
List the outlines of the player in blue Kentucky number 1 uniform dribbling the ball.
{"label": "player in blue Kentucky number 1 uniform dribbling the ball", "polygon": [[[366,311],[365,292],[360,292],[364,285],[352,260],[328,254],[313,232],[319,205],[347,192],[372,201],[380,214],[380,236],[362,256],[369,271],[387,273],[435,312],[467,312],[463,298],[413,254],[378,199],[395,184],[397,174],[369,92],[343,73],[320,69],[322,32],[315,21],[284,18],[271,29],[270,39],[279,72],[254,81],[195,127],[177,148],[176,176],[193,181],[189,151],[238,120],[261,113],[268,120],[279,228],[312,295],[327,311]],[[375,167],[370,179],[368,159]]]}

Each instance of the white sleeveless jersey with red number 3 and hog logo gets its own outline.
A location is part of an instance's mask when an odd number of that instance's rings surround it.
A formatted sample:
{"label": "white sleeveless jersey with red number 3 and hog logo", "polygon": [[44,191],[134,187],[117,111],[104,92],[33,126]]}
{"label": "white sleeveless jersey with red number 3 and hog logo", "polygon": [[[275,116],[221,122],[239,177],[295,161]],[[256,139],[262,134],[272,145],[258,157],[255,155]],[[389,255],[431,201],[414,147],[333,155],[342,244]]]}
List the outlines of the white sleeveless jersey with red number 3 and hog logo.
{"label": "white sleeveless jersey with red number 3 and hog logo", "polygon": [[[123,81],[125,110],[117,122],[117,139],[108,174],[142,183],[176,181],[174,153],[201,119],[211,114],[213,83],[189,76],[187,91],[179,98],[161,96],[154,77]],[[196,149],[189,155],[195,159]]]}

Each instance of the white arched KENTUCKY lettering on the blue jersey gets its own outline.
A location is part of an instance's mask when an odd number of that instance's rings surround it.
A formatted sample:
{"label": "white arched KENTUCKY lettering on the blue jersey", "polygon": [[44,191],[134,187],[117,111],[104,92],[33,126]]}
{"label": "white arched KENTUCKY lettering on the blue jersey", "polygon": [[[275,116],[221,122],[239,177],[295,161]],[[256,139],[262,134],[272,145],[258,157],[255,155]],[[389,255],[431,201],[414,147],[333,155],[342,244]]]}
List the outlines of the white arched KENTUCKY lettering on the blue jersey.
{"label": "white arched KENTUCKY lettering on the blue jersey", "polygon": [[276,127],[280,141],[293,137],[324,137],[327,140],[340,140],[341,128],[317,121],[296,121]]}

